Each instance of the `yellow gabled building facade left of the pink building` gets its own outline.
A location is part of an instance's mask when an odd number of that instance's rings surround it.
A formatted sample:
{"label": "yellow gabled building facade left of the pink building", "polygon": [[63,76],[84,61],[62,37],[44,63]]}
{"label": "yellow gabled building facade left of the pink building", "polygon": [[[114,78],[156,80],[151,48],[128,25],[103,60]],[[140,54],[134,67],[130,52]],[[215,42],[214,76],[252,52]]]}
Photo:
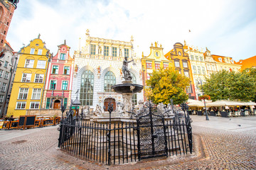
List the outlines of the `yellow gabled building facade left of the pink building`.
{"label": "yellow gabled building facade left of the pink building", "polygon": [[49,50],[38,38],[19,52],[16,76],[11,90],[7,115],[26,115],[27,109],[40,109],[48,68]]}

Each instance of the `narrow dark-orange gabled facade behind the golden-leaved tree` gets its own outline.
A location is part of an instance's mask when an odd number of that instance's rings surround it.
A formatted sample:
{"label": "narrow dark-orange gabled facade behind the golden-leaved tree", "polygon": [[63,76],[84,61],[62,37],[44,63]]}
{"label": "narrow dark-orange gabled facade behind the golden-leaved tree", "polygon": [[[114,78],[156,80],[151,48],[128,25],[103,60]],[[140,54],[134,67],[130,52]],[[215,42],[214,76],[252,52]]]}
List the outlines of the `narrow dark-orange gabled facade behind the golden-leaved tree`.
{"label": "narrow dark-orange gabled facade behind the golden-leaved tree", "polygon": [[167,60],[172,61],[172,67],[174,67],[177,72],[191,80],[190,85],[186,88],[186,94],[188,94],[188,98],[196,99],[191,62],[188,53],[183,49],[183,45],[180,42],[176,42],[174,44],[174,49],[167,52],[164,57],[166,57]]}

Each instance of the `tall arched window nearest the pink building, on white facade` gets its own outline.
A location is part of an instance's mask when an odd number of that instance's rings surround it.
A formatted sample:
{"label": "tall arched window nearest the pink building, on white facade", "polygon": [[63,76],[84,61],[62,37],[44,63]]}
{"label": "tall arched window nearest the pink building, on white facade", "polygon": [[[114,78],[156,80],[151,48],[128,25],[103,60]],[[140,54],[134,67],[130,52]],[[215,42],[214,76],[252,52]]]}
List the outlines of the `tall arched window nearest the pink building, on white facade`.
{"label": "tall arched window nearest the pink building, on white facade", "polygon": [[94,75],[85,70],[81,77],[80,102],[82,106],[92,106]]}

